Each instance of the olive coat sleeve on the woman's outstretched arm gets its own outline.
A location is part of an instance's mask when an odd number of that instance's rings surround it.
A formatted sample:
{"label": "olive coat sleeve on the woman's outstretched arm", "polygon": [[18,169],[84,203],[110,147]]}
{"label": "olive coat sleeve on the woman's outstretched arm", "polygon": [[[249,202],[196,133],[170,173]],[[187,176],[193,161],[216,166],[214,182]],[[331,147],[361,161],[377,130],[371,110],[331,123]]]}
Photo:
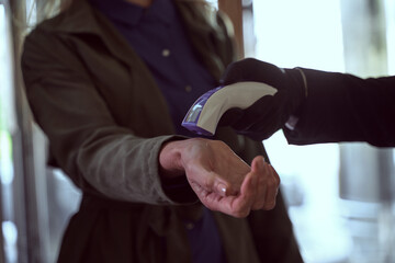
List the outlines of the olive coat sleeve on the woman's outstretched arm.
{"label": "olive coat sleeve on the woman's outstretched arm", "polygon": [[26,98],[58,165],[83,192],[111,198],[173,204],[158,173],[158,155],[173,136],[142,138],[116,124],[67,42],[33,31],[22,71]]}

